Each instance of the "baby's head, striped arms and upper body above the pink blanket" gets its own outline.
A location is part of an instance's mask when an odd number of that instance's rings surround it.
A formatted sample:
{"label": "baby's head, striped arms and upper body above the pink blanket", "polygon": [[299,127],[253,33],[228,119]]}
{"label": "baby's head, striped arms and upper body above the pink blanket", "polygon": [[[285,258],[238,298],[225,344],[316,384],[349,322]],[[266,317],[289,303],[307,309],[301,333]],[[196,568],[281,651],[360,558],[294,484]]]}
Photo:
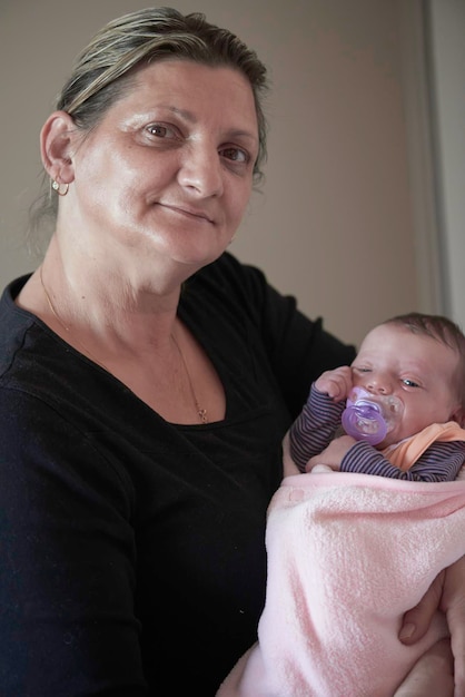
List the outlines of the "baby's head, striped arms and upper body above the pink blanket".
{"label": "baby's head, striped arms and upper body above the pink blanket", "polygon": [[[387,405],[387,432],[376,445],[355,431],[334,438],[346,400],[357,391],[379,414]],[[454,480],[465,461],[464,421],[465,336],[446,317],[412,313],[372,330],[352,366],[318,377],[289,431],[290,457],[301,472],[325,465],[412,481]]]}

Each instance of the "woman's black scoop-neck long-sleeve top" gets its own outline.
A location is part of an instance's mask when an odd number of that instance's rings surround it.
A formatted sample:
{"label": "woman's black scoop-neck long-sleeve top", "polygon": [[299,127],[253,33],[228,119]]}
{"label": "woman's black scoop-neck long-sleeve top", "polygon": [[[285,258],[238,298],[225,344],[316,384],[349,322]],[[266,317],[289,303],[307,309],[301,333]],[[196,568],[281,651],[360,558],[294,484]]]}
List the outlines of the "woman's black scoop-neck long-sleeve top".
{"label": "woman's black scoop-neck long-sleeve top", "polygon": [[255,641],[281,439],[354,351],[225,254],[179,316],[224,421],[166,422],[13,298],[0,303],[0,695],[215,695]]}

